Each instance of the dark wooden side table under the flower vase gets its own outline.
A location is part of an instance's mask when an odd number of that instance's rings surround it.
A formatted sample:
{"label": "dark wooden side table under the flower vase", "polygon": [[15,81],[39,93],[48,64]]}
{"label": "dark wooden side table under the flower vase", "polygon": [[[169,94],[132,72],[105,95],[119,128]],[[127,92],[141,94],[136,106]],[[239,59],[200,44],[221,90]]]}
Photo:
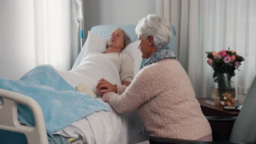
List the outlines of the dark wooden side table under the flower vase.
{"label": "dark wooden side table under the flower vase", "polygon": [[[206,100],[211,98],[197,98],[200,103],[203,115],[215,117],[236,117],[239,111],[224,110],[222,105],[211,105]],[[235,106],[238,106],[236,101]],[[234,122],[210,122],[212,128],[213,141],[229,141],[229,136]]]}

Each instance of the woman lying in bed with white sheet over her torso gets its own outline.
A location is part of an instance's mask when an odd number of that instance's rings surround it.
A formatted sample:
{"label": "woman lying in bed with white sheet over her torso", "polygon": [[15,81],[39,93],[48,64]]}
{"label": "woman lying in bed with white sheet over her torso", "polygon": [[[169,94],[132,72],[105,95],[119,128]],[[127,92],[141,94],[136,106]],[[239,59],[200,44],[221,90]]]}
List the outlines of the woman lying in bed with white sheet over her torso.
{"label": "woman lying in bed with white sheet over her torso", "polygon": [[94,93],[97,81],[102,77],[110,82],[129,86],[133,79],[133,63],[131,57],[121,51],[130,41],[122,29],[115,28],[104,53],[91,52],[74,70],[58,73],[73,87],[85,83]]}

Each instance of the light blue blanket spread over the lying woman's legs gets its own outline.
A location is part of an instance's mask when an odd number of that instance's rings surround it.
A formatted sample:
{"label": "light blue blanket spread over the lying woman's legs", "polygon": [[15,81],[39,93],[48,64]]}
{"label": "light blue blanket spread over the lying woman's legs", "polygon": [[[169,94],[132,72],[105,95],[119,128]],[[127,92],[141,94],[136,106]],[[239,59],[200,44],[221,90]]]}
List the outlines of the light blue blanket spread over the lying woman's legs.
{"label": "light blue blanket spread over the lying woman's legs", "polygon": [[[0,88],[27,95],[37,101],[43,110],[49,140],[55,131],[79,118],[92,112],[110,110],[103,102],[75,91],[50,65],[40,65],[18,81],[0,77]],[[18,117],[22,123],[34,126],[33,113],[27,106],[18,105]]]}

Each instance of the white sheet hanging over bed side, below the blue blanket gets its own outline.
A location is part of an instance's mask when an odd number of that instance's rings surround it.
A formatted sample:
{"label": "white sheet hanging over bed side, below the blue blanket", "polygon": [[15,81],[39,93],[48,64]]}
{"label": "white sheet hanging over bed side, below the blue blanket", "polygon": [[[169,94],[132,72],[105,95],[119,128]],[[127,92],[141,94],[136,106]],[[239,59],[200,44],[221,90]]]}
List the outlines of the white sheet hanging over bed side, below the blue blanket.
{"label": "white sheet hanging over bed side, below the blue blanket", "polygon": [[86,143],[129,143],[143,130],[136,111],[119,114],[114,110],[98,111],[56,132],[66,137],[81,135]]}

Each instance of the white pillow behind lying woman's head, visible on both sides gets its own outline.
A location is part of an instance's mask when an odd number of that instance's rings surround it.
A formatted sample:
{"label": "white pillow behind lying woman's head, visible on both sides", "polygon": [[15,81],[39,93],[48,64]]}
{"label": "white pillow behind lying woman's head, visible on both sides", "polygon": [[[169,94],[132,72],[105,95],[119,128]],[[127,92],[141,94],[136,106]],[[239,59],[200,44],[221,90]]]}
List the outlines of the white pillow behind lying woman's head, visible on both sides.
{"label": "white pillow behind lying woman's head, visible on both sides", "polygon": [[[90,52],[105,52],[107,41],[107,39],[100,37],[91,31],[88,31],[88,37],[85,43],[84,57],[87,56]],[[131,56],[134,65],[135,76],[141,68],[142,63],[141,51],[138,49],[138,40],[127,45],[122,52]]]}

